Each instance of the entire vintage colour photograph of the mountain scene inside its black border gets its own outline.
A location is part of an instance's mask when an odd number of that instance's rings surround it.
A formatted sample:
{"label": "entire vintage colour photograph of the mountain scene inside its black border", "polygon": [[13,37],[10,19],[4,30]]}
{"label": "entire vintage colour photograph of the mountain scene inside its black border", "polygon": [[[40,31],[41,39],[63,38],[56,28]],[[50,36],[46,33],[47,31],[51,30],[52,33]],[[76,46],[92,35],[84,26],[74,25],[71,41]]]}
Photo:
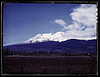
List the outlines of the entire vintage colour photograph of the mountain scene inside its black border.
{"label": "entire vintage colour photograph of the mountain scene inside its black border", "polygon": [[97,4],[3,2],[2,74],[97,74]]}

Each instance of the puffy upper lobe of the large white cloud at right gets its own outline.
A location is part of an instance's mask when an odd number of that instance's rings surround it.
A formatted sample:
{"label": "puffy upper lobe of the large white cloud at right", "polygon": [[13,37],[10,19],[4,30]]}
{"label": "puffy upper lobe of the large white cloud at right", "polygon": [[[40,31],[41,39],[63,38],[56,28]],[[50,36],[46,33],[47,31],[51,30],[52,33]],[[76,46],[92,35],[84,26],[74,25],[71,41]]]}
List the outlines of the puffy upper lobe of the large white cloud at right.
{"label": "puffy upper lobe of the large white cloud at right", "polygon": [[70,14],[73,21],[77,21],[85,26],[96,26],[96,6],[92,4],[82,4],[75,8]]}

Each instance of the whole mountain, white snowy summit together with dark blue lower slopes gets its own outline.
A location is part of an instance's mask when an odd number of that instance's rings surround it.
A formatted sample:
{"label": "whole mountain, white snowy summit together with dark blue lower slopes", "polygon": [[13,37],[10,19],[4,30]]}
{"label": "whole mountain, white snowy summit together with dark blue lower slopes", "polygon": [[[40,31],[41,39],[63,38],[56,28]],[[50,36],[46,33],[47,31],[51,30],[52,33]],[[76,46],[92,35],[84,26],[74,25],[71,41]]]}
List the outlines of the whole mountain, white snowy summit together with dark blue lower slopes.
{"label": "whole mountain, white snowy summit together with dark blue lower slopes", "polygon": [[90,40],[91,38],[84,38],[84,40],[83,38],[73,38],[67,38],[67,35],[64,32],[56,32],[55,34],[37,34],[23,43],[4,46],[3,49],[6,50],[8,48],[10,51],[14,50],[19,52],[96,52],[96,39]]}

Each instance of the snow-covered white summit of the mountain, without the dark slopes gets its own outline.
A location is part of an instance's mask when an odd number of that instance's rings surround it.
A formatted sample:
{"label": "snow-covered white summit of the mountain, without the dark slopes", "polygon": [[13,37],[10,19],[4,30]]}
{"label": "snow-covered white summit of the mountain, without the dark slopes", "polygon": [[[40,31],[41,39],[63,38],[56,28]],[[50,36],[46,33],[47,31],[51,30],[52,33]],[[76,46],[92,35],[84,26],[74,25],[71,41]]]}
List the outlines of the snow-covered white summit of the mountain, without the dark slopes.
{"label": "snow-covered white summit of the mountain, without the dark slopes", "polygon": [[44,41],[65,41],[67,38],[62,38],[64,36],[64,32],[57,32],[55,34],[37,34],[35,37],[30,38],[29,40],[25,41],[26,44],[28,43],[35,43],[35,42],[44,42]]}

